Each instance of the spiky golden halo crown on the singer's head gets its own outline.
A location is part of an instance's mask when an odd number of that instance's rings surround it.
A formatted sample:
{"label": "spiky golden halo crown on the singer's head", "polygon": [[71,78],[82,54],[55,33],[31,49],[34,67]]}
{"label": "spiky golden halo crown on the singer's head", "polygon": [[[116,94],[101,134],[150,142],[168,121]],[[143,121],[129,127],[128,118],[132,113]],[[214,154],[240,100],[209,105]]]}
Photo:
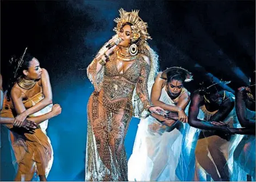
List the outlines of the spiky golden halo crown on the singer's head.
{"label": "spiky golden halo crown on the singer's head", "polygon": [[113,29],[116,32],[116,34],[120,32],[120,29],[122,28],[122,25],[124,23],[129,22],[133,24],[131,26],[132,42],[139,40],[138,44],[147,45],[147,40],[152,38],[149,36],[147,32],[147,23],[143,22],[142,19],[139,17],[139,10],[132,10],[132,12],[127,12],[121,8],[119,10],[119,13],[120,17],[114,19],[114,22],[117,23],[117,26]]}

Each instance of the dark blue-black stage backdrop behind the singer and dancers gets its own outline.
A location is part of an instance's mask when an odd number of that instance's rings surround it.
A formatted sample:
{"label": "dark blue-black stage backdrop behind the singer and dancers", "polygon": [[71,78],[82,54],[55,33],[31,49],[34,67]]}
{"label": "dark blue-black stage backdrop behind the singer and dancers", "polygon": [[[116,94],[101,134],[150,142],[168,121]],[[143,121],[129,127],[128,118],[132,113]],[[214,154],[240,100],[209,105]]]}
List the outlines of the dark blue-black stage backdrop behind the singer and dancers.
{"label": "dark blue-black stage backdrop behind the singer and dancers", "polygon": [[[63,112],[49,121],[54,163],[48,180],[83,181],[86,104],[93,91],[85,68],[114,35],[118,9],[140,10],[159,54],[161,70],[181,66],[194,75],[192,92],[201,78],[231,80],[233,91],[247,85],[255,70],[255,1],[1,1],[1,74],[4,86],[8,60],[24,49],[48,70],[53,101]],[[255,76],[255,75],[253,75]],[[126,137],[132,153],[138,119]],[[13,180],[10,145],[1,126],[1,180]]]}

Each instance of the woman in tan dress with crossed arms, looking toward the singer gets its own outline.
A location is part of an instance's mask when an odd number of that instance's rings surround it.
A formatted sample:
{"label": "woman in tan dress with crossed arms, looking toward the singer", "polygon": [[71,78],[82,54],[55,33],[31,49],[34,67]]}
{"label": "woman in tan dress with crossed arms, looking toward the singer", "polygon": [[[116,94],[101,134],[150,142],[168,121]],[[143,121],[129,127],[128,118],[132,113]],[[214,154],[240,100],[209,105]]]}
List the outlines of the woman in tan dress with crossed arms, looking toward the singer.
{"label": "woman in tan dress with crossed arms, looking toward the singer", "polygon": [[43,101],[46,97],[52,98],[48,73],[40,68],[35,57],[25,53],[18,62],[17,75],[15,73],[18,79],[11,88],[10,95],[7,93],[4,96],[1,117],[15,118],[17,114],[30,109],[27,119],[38,124],[33,132],[19,127],[22,122],[18,126],[5,125],[11,131],[11,146],[15,154],[14,160],[18,164],[15,181],[31,181],[35,172],[40,181],[46,181],[53,162],[53,150],[46,128],[48,119],[59,115],[61,107],[52,106],[51,99]]}

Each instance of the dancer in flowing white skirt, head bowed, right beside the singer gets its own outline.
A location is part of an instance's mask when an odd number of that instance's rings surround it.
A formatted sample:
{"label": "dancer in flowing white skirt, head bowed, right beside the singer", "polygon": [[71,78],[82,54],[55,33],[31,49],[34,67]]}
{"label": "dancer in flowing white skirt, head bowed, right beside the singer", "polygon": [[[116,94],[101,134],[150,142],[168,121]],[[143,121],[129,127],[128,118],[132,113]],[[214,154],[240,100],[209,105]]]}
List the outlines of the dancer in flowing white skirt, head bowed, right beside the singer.
{"label": "dancer in flowing white skirt, head bowed, right beside the singer", "polygon": [[[167,116],[152,114],[140,121],[133,154],[128,161],[128,180],[183,181],[190,178],[189,171],[195,168],[192,159],[195,154],[191,151],[197,129],[186,124],[190,93],[183,83],[191,80],[191,73],[178,67],[158,74],[151,100],[155,106],[165,109]],[[178,117],[172,118],[172,112],[178,113]],[[191,166],[193,170],[189,170]]]}

